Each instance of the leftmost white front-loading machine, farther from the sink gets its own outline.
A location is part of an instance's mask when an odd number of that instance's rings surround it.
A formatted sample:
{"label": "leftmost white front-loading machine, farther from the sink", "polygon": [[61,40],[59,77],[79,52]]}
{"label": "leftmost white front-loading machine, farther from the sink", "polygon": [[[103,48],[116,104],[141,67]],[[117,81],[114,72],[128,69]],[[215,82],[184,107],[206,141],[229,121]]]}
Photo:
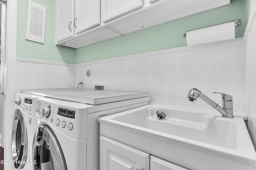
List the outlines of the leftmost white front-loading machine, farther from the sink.
{"label": "leftmost white front-loading machine, farther from the sink", "polygon": [[14,170],[32,170],[32,144],[36,119],[36,96],[16,93],[12,125],[12,159]]}

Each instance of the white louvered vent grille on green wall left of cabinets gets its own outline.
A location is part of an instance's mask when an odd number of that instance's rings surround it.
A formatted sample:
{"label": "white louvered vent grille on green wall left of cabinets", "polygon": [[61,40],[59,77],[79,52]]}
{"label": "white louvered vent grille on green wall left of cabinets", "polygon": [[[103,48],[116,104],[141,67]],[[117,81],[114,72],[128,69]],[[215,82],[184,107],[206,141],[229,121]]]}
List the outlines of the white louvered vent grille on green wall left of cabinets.
{"label": "white louvered vent grille on green wall left of cabinets", "polygon": [[46,7],[29,1],[26,39],[44,43],[45,18]]}

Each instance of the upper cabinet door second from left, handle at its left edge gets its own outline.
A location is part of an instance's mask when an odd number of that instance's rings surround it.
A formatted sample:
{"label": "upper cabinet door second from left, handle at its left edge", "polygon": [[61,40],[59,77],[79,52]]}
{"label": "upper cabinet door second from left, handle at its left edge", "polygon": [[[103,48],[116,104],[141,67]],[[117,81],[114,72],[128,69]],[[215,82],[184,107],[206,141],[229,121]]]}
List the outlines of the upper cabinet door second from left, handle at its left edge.
{"label": "upper cabinet door second from left, handle at its left edge", "polygon": [[100,24],[100,0],[75,0],[75,33]]}

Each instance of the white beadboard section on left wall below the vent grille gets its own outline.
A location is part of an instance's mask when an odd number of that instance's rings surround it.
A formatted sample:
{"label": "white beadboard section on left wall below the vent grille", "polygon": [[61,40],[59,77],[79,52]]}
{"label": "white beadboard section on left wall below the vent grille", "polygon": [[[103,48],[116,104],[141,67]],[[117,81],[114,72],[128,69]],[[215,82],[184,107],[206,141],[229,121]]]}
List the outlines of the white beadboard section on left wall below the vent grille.
{"label": "white beadboard section on left wall below the vent grille", "polygon": [[32,88],[74,88],[74,64],[17,58],[16,92]]}

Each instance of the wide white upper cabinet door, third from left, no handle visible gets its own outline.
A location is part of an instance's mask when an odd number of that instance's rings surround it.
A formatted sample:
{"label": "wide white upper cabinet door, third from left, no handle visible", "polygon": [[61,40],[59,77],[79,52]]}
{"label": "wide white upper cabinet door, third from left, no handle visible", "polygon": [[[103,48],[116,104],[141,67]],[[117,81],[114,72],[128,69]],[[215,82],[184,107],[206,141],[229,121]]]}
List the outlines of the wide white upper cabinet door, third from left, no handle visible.
{"label": "wide white upper cabinet door, third from left, no handle visible", "polygon": [[101,20],[107,22],[143,7],[143,0],[101,0]]}

